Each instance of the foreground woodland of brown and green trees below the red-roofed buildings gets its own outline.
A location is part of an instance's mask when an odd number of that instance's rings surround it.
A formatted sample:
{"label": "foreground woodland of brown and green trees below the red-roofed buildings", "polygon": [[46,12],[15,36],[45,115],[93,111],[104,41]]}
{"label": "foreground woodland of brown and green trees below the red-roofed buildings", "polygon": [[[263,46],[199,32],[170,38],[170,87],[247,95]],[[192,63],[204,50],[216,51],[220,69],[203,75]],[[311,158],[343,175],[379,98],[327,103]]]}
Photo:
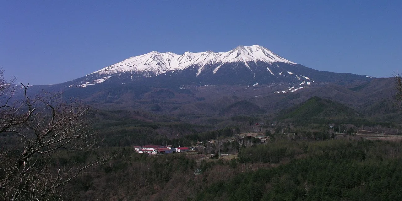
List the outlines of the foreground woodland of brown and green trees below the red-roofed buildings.
{"label": "foreground woodland of brown and green trees below the red-roofed buildings", "polygon": [[[149,157],[130,147],[70,183],[66,200],[400,200],[402,143],[277,140],[232,160]],[[58,160],[85,161],[80,155]],[[199,169],[201,174],[194,172]],[[67,193],[68,192],[68,193]]]}

